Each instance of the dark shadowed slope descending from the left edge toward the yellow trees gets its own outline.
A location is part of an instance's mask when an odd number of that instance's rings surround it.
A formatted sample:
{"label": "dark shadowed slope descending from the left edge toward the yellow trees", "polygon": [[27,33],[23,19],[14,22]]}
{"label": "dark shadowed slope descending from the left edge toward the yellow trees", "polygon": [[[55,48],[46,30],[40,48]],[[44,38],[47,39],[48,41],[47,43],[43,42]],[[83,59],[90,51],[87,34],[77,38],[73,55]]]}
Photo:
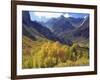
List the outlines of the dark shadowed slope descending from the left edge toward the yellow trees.
{"label": "dark shadowed slope descending from the left edge toward the yellow trees", "polygon": [[[53,41],[59,41],[60,43],[72,45],[72,41],[65,39],[63,37],[58,37],[45,25],[40,24],[37,21],[31,21],[28,11],[23,12],[22,16],[23,21],[23,35],[30,37],[33,40],[37,38],[47,38]],[[59,27],[60,28],[60,27]]]}

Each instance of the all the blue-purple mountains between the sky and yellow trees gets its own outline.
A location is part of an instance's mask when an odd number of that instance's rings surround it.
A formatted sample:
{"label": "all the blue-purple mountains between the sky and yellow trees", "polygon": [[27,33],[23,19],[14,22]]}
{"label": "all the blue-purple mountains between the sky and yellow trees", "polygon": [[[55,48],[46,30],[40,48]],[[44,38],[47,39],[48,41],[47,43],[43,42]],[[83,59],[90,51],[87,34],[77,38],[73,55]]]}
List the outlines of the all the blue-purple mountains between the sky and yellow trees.
{"label": "all the blue-purple mountains between the sky and yellow trees", "polygon": [[33,40],[47,38],[62,44],[72,45],[74,39],[89,39],[89,17],[73,18],[61,15],[47,22],[31,21],[28,11],[22,13],[23,35]]}

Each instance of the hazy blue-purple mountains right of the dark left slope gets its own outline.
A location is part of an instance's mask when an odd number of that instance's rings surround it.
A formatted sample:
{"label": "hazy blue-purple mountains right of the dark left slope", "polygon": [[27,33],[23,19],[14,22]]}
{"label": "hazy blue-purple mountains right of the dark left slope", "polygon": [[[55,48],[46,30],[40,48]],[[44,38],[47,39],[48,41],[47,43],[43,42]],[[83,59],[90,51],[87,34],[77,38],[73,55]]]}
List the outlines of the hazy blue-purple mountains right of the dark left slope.
{"label": "hazy blue-purple mountains right of the dark left slope", "polygon": [[65,18],[63,15],[58,18],[51,18],[45,24],[56,36],[65,40],[89,38],[89,16],[86,18]]}

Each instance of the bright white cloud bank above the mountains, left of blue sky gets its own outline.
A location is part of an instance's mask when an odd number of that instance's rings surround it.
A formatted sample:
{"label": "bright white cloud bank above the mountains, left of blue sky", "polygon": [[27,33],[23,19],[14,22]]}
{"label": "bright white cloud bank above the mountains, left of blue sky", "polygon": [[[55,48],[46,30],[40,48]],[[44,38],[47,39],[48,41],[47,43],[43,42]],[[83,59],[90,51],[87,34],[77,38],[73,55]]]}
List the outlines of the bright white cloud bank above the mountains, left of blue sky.
{"label": "bright white cloud bank above the mountains, left of blue sky", "polygon": [[69,17],[69,13],[54,13],[54,12],[33,12],[30,11],[31,20],[37,21],[47,21],[50,18],[58,18],[61,15],[65,16],[66,18]]}

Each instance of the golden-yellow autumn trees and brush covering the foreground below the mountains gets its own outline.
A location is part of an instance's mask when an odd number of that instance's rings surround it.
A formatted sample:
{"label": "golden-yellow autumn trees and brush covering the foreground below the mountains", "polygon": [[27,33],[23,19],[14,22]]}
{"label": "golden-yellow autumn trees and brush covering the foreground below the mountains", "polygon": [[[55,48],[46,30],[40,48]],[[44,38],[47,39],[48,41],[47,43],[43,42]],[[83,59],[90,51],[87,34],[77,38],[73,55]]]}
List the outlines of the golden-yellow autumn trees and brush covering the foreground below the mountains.
{"label": "golden-yellow autumn trees and brush covering the foreground below the mountains", "polygon": [[89,50],[78,43],[72,46],[46,38],[31,40],[23,36],[22,68],[49,68],[89,65]]}

